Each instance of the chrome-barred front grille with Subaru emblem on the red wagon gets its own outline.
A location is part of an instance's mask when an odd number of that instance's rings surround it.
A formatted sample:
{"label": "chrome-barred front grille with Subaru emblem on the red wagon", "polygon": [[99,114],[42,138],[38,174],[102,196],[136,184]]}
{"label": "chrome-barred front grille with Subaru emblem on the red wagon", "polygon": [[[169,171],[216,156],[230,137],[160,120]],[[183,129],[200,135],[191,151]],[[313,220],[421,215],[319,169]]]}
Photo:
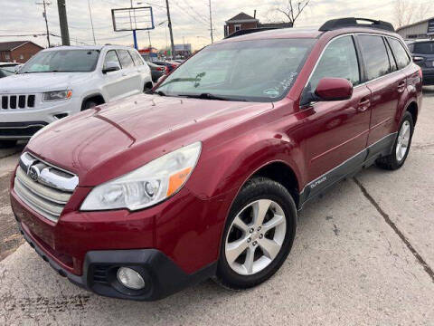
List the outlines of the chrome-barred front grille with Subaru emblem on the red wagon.
{"label": "chrome-barred front grille with Subaru emblem on the red wagon", "polygon": [[52,222],[57,222],[77,185],[78,177],[29,153],[21,156],[14,178],[15,194]]}

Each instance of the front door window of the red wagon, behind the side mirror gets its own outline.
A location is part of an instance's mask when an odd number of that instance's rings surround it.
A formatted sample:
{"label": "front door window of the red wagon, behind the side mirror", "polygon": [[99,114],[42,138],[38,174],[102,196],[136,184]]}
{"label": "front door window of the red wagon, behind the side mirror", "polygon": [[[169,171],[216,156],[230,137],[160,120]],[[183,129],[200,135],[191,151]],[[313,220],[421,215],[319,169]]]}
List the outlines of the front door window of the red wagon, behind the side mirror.
{"label": "front door window of the red wagon, behind the side mirror", "polygon": [[359,64],[352,36],[339,37],[328,44],[310,78],[307,91],[315,91],[318,82],[325,77],[344,78],[354,86],[360,83]]}

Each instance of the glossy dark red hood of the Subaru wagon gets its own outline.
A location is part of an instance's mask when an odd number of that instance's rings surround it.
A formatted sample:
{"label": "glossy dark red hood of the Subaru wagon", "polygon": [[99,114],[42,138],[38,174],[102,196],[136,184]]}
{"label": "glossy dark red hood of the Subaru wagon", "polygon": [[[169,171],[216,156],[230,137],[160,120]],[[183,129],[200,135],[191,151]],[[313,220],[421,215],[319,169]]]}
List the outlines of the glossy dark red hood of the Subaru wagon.
{"label": "glossy dark red hood of the Subaru wagon", "polygon": [[27,150],[76,173],[81,187],[92,187],[165,153],[206,141],[272,107],[137,95],[56,121],[35,135]]}

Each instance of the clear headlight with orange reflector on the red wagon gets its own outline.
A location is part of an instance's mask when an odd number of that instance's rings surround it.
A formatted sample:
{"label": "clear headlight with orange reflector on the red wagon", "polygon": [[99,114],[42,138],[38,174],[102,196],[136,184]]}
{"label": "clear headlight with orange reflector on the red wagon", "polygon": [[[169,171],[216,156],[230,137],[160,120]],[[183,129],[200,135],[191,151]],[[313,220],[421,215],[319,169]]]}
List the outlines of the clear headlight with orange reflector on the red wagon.
{"label": "clear headlight with orange reflector on the red wagon", "polygon": [[125,176],[94,187],[81,205],[83,211],[127,208],[131,211],[156,205],[175,195],[193,172],[202,143],[156,158]]}

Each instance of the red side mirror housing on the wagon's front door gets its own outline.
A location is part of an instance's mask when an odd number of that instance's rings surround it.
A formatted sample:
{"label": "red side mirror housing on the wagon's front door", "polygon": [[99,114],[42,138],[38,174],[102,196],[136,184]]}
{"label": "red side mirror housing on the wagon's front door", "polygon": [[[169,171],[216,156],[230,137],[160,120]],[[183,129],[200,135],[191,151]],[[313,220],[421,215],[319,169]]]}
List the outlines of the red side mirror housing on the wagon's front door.
{"label": "red side mirror housing on the wagon's front door", "polygon": [[344,101],[353,96],[353,84],[344,78],[323,78],[316,86],[316,101]]}

